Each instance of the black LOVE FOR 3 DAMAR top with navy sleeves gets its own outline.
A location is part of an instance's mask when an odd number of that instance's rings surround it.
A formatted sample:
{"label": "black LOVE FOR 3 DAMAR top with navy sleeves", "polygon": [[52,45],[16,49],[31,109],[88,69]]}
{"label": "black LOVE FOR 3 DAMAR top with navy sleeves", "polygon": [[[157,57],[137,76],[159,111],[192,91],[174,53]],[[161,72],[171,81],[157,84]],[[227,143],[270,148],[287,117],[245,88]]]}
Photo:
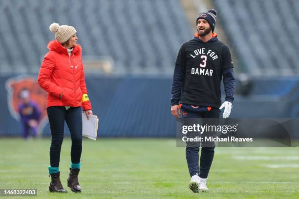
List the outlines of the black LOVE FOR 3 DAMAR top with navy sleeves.
{"label": "black LOVE FOR 3 DAMAR top with navy sleeves", "polygon": [[226,101],[235,93],[234,65],[227,45],[217,37],[203,42],[198,37],[184,42],[177,55],[171,86],[171,106],[179,103],[221,105],[220,83],[223,77]]}

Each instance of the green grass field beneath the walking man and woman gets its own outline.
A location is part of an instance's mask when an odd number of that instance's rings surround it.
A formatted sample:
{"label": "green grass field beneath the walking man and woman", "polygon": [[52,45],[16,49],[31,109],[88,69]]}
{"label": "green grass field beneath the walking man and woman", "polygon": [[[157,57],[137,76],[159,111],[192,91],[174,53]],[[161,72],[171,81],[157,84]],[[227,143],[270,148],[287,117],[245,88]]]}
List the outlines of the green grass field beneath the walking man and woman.
{"label": "green grass field beneath the walking man and woman", "polygon": [[[192,193],[185,149],[175,139],[84,139],[79,180],[66,186],[70,139],[60,170],[67,194],[49,193],[50,139],[0,139],[0,188],[37,188],[30,198],[298,199],[299,148],[216,148],[209,193]],[[29,198],[29,197],[3,197]]]}

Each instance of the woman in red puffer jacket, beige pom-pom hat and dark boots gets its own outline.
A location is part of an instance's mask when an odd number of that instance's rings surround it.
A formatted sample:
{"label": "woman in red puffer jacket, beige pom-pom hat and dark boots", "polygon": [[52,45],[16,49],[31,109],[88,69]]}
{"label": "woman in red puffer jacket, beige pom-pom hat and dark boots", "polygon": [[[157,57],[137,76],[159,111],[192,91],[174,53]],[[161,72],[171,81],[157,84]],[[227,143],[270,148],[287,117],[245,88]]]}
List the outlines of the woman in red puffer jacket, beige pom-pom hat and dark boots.
{"label": "woman in red puffer jacket, beige pom-pom hat and dark boots", "polygon": [[49,173],[50,192],[67,192],[60,181],[59,160],[64,139],[64,120],[69,128],[72,147],[70,174],[67,186],[73,192],[81,192],[78,174],[81,169],[82,114],[92,114],[87,96],[83,71],[81,46],[76,42],[76,29],[72,26],[52,23],[50,31],[55,39],[49,42],[49,52],[45,55],[38,76],[39,85],[47,91],[47,114],[51,128]]}

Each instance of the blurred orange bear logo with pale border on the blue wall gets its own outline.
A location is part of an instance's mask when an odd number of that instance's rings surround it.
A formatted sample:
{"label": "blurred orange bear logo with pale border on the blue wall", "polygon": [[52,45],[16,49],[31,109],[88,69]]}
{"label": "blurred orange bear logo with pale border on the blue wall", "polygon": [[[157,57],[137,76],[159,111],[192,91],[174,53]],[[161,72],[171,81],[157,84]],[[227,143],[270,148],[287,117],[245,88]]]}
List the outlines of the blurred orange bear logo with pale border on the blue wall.
{"label": "blurred orange bear logo with pale border on the blue wall", "polygon": [[43,131],[44,126],[47,123],[46,112],[46,98],[47,93],[39,86],[34,76],[19,76],[13,77],[6,81],[7,89],[7,103],[10,114],[13,118],[19,120],[18,106],[22,102],[21,92],[28,90],[30,93],[30,100],[33,100],[38,104],[41,115],[41,121],[39,123],[39,132]]}

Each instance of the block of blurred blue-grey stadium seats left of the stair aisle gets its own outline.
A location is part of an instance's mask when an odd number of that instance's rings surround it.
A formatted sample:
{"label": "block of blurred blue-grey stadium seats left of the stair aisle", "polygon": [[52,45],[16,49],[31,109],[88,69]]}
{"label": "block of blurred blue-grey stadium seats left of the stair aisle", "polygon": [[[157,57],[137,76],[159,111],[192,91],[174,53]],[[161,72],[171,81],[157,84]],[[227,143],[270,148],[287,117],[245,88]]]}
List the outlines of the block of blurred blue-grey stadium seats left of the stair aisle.
{"label": "block of blurred blue-grey stadium seats left of the stair aisle", "polygon": [[126,74],[171,71],[180,44],[192,38],[180,0],[2,0],[0,73],[37,73],[52,22],[77,29],[83,58],[110,56]]}

